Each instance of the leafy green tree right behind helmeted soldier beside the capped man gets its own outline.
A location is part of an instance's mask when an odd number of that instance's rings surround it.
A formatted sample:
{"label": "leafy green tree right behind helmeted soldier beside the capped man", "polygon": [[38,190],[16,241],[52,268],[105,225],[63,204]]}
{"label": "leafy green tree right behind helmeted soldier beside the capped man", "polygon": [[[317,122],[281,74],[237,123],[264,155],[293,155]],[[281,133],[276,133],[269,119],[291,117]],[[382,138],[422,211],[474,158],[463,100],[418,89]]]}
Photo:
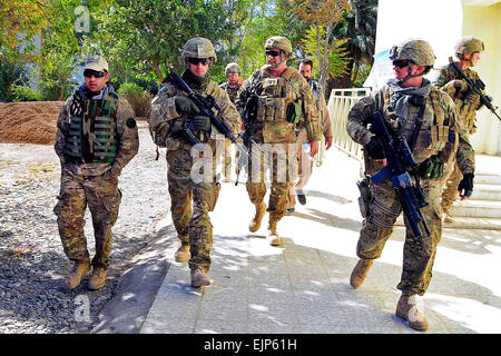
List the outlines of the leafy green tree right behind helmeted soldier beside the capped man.
{"label": "leafy green tree right behind helmeted soldier beside the capped man", "polygon": [[183,46],[195,36],[223,52],[220,43],[235,29],[228,18],[229,8],[216,0],[116,0],[101,18],[107,37],[100,48],[163,81],[169,68],[180,68]]}

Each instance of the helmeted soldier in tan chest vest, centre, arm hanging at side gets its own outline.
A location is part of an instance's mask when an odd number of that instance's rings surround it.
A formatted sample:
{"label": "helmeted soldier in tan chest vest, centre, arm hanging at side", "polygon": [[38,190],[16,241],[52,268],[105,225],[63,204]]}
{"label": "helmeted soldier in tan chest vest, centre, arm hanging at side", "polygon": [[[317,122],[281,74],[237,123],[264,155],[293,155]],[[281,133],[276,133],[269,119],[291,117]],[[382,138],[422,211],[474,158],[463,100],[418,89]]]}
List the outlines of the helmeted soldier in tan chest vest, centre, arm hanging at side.
{"label": "helmeted soldier in tan chest vest, centre, arm hanging at side", "polygon": [[[287,67],[286,60],[292,57],[291,42],[284,37],[272,37],[266,40],[265,55],[267,65],[244,82],[237,108],[252,139],[245,142],[252,152],[246,188],[256,214],[248,228],[252,233],[259,229],[267,208],[267,239],[271,245],[279,246],[277,222],[286,212],[287,194],[297,175],[295,130],[306,129],[313,157],[318,151],[321,129],[312,89],[296,69]],[[272,169],[268,206],[263,201],[267,167]]]}

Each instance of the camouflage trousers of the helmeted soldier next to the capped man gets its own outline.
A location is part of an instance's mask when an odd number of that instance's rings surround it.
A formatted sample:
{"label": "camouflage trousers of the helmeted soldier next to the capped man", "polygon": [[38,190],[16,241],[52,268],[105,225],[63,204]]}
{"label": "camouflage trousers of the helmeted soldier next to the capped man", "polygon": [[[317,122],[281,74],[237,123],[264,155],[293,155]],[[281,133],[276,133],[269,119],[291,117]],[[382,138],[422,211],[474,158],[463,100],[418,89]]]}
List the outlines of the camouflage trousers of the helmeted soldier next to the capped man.
{"label": "camouflage trousers of the helmeted soldier next to the capped man", "polygon": [[200,164],[200,160],[191,158],[189,146],[183,145],[167,151],[167,182],[174,226],[180,243],[189,245],[189,268],[199,267],[205,271],[210,268],[213,247],[213,225],[208,212],[214,210],[220,190],[216,181],[215,145],[208,147],[214,148],[214,156],[207,157],[207,166],[202,166],[198,171],[206,177],[202,181],[193,179],[194,164]]}

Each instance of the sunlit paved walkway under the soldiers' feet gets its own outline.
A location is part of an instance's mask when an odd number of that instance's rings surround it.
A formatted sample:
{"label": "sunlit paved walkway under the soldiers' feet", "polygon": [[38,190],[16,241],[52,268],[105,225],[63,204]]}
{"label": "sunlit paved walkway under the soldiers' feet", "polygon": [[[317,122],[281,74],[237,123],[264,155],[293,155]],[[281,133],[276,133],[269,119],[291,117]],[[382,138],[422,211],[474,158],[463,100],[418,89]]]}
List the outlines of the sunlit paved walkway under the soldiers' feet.
{"label": "sunlit paved walkway under the soldiers' feet", "polygon": [[[499,157],[483,158],[487,165]],[[498,167],[500,167],[498,165]],[[400,291],[404,229],[396,227],[382,258],[357,290],[360,165],[335,148],[305,189],[307,204],[283,218],[283,247],[265,240],[267,216],[247,229],[253,206],[245,186],[224,184],[214,225],[212,285],[189,286],[187,264],[174,261],[178,241],[168,216],[168,269],[138,332],[181,334],[418,333],[394,316]],[[501,231],[445,229],[431,286],[421,308],[428,333],[501,333]],[[126,299],[122,297],[122,299]]]}

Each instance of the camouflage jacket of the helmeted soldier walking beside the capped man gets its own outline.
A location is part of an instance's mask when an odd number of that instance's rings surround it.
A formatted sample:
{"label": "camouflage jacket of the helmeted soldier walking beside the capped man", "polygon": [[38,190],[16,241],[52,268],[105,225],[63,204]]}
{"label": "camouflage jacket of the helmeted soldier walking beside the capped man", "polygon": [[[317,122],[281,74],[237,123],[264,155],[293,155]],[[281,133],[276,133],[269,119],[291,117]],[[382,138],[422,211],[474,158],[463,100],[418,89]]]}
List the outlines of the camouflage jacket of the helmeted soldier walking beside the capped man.
{"label": "camouflage jacket of the helmeted soldier walking beside the capped man", "polygon": [[[194,89],[194,91],[196,90]],[[226,125],[233,129],[234,135],[238,135],[240,132],[240,116],[238,115],[235,105],[229,100],[226,91],[220,89],[215,81],[210,80],[206,88],[199,90],[198,93],[204,97],[208,95],[213,96],[216,103],[220,108],[220,110],[215,113],[218,115],[226,122]],[[167,83],[153,99],[151,108],[147,116],[155,144],[160,147],[167,147],[168,150],[177,149],[180,145],[189,146],[189,144],[183,138],[173,137],[173,135],[170,135],[171,132],[183,129],[187,121],[191,120],[191,117],[177,112],[175,103],[177,96],[187,95],[183,90],[177,89],[175,86]],[[223,139],[224,136],[213,126],[209,138]]]}

